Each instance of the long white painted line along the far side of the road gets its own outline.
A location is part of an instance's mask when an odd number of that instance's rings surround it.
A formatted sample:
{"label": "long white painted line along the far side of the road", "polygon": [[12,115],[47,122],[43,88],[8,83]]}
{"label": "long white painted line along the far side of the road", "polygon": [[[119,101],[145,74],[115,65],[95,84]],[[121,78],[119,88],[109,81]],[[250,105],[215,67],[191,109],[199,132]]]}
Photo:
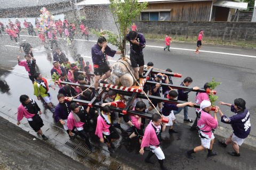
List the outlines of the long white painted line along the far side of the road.
{"label": "long white painted line along the far side of the road", "polygon": [[[20,35],[23,37],[37,37],[37,36],[27,36],[27,35]],[[58,39],[63,39],[63,38],[58,38]],[[97,42],[95,40],[84,40],[84,39],[75,39],[77,41],[89,41],[89,42]],[[129,45],[129,44],[126,44]],[[7,46],[7,45],[6,45]],[[146,45],[147,47],[154,47],[154,48],[163,48],[162,46],[150,46]],[[170,49],[178,49],[178,50],[187,50],[187,51],[195,51],[195,49],[187,49],[187,48],[174,48],[170,47]],[[256,56],[253,55],[243,55],[243,54],[235,54],[235,53],[222,53],[222,52],[212,52],[212,51],[206,51],[206,50],[200,50],[200,52],[205,52],[205,53],[214,53],[214,54],[226,54],[226,55],[235,55],[235,56],[243,56],[243,57],[251,57],[251,58],[256,58]],[[110,61],[110,60],[109,60]]]}

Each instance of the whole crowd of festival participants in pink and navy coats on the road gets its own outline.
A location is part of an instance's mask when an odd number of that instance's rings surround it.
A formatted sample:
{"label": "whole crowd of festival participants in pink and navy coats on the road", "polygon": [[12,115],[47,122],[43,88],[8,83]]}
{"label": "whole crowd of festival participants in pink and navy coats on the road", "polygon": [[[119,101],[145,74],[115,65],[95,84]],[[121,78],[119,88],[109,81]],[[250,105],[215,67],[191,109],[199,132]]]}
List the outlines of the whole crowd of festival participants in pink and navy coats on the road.
{"label": "whole crowd of festival participants in pink and navy coats on the road", "polygon": [[[38,25],[38,21],[35,21],[35,25]],[[106,92],[102,95],[100,99],[101,109],[89,107],[88,105],[79,105],[78,103],[72,101],[74,98],[91,101],[94,96],[99,96],[99,83],[107,83],[106,80],[110,77],[111,66],[109,65],[107,59],[108,56],[114,57],[114,55],[119,55],[121,52],[111,49],[107,45],[107,40],[103,36],[98,38],[98,41],[91,48],[93,67],[89,62],[85,62],[81,55],[77,55],[77,60],[75,63],[70,63],[66,55],[60,50],[57,37],[62,37],[62,33],[67,36],[70,41],[74,40],[74,30],[75,25],[69,24],[65,20],[52,21],[51,27],[47,31],[38,31],[38,37],[45,43],[48,39],[50,42],[50,48],[53,49],[55,44],[56,48],[53,50],[53,67],[49,72],[51,75],[56,76],[59,79],[55,85],[59,87],[59,93],[57,96],[52,96],[50,94],[49,88],[55,89],[53,84],[50,84],[45,78],[42,77],[41,73],[36,71],[36,59],[33,55],[32,46],[24,41],[20,44],[20,50],[25,53],[25,60],[21,60],[22,57],[18,56],[18,65],[24,66],[29,74],[29,79],[33,83],[34,95],[38,100],[43,100],[47,107],[51,110],[54,115],[55,122],[60,122],[63,125],[69,135],[69,138],[74,138],[78,135],[82,138],[86,144],[89,146],[92,152],[96,150],[90,142],[89,132],[92,132],[99,137],[99,141],[106,143],[109,152],[115,152],[114,141],[119,138],[119,133],[116,129],[122,129],[121,122],[129,126],[126,130],[129,133],[129,137],[125,139],[124,145],[129,145],[132,138],[137,137],[140,143],[140,154],[143,155],[145,150],[148,151],[148,155],[145,158],[145,162],[149,164],[154,164],[150,160],[153,155],[158,158],[159,165],[161,169],[167,169],[164,166],[165,155],[161,149],[161,133],[163,131],[168,131],[171,133],[178,133],[175,130],[175,115],[179,114],[183,109],[184,122],[193,123],[191,131],[197,130],[199,138],[201,139],[201,144],[191,148],[186,152],[187,157],[194,159],[197,152],[207,149],[207,157],[216,156],[217,152],[213,151],[214,143],[214,129],[218,128],[218,118],[221,123],[230,124],[233,128],[233,133],[226,141],[219,140],[221,146],[227,147],[227,145],[232,145],[233,151],[229,152],[231,156],[240,156],[239,146],[242,145],[246,137],[250,133],[250,112],[246,109],[245,100],[242,98],[234,99],[233,104],[219,102],[220,105],[226,105],[230,107],[230,111],[234,112],[234,115],[228,117],[225,113],[222,113],[218,106],[215,106],[215,111],[212,110],[212,104],[209,99],[209,95],[205,92],[197,92],[195,96],[195,101],[188,101],[188,94],[192,90],[199,90],[199,87],[188,88],[186,90],[178,89],[174,90],[172,88],[161,87],[161,83],[172,84],[173,81],[170,76],[162,73],[150,74],[150,81],[156,82],[154,85],[145,84],[143,91],[147,95],[152,96],[163,96],[167,99],[178,99],[184,101],[182,104],[171,104],[165,102],[159,102],[152,100],[149,103],[149,107],[146,105],[146,101],[137,98],[132,104],[131,109],[133,111],[138,111],[141,113],[149,113],[149,111],[154,111],[151,116],[151,120],[146,120],[143,117],[137,115],[129,115],[116,113],[111,111],[111,107],[124,108],[127,104],[127,96],[118,94],[116,91],[111,89],[106,89]],[[4,25],[1,24],[1,33],[4,32]],[[23,22],[23,25],[28,30],[29,35],[36,35],[33,25],[31,23]],[[17,36],[19,37],[19,32],[21,30],[20,21],[16,20],[14,23],[9,20],[9,25],[6,25],[5,32],[10,35],[11,39],[17,41]],[[88,28],[83,24],[80,25],[82,37],[85,36],[88,39],[89,31]],[[201,47],[202,38],[204,31],[199,32],[197,49],[195,53],[199,53],[199,48]],[[134,77],[139,81],[139,78],[145,78],[144,69],[149,69],[154,67],[154,63],[148,62],[145,67],[143,49],[146,47],[146,40],[142,33],[138,33],[135,24],[132,25],[132,30],[127,33],[127,41],[130,43],[130,60],[131,66],[134,71]],[[166,35],[166,47],[170,51],[170,41],[171,37]],[[82,71],[83,73],[81,74]],[[171,69],[166,69],[167,72],[172,72]],[[91,74],[94,72],[94,79]],[[60,82],[72,82],[77,84],[93,84],[94,89],[87,89],[83,87],[72,87],[68,84],[61,84]],[[135,82],[134,85],[136,85]],[[180,86],[189,87],[193,83],[193,79],[190,77],[185,78],[182,82],[179,82]],[[210,89],[209,83],[202,83],[204,89]],[[32,90],[32,86],[31,86]],[[54,106],[51,102],[52,98],[58,98],[59,103]],[[40,117],[42,114],[41,108],[38,107],[36,100],[33,97],[27,95],[20,96],[20,106],[18,107],[17,124],[23,117],[27,118],[29,125],[42,136],[43,140],[48,138],[44,135],[41,128],[44,125],[43,120]],[[230,102],[229,102],[230,103]],[[188,107],[193,107],[194,105],[199,105],[200,108],[195,108],[196,120],[190,120],[188,118]],[[111,106],[111,107],[110,107]],[[159,112],[155,112],[155,108],[159,108]],[[213,112],[213,113],[212,113]],[[194,114],[194,113],[193,113]],[[219,115],[219,116],[218,116]],[[169,118],[168,123],[162,123],[162,118]],[[114,120],[115,123],[114,123]]]}

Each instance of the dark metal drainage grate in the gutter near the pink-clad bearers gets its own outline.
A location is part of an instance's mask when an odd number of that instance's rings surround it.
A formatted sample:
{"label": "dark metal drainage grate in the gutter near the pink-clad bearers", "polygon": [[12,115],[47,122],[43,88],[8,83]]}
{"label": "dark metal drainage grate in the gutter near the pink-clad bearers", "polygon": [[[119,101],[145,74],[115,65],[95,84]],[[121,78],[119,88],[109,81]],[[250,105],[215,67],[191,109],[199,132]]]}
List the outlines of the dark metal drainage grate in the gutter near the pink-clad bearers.
{"label": "dark metal drainage grate in the gutter near the pink-clad bearers", "polygon": [[82,157],[86,157],[91,153],[89,147],[83,141],[79,141],[77,139],[70,139],[65,143],[65,145],[71,149],[74,149],[74,151]]}

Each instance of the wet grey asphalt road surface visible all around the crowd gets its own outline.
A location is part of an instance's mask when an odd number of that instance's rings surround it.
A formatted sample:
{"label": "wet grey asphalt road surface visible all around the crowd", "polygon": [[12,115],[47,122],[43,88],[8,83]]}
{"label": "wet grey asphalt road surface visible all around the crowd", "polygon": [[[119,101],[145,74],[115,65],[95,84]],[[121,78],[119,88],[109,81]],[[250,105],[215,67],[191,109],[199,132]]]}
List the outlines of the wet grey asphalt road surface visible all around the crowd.
{"label": "wet grey asphalt road surface visible all around the crowd", "polygon": [[[207,36],[207,35],[205,35]],[[21,36],[21,40],[26,39],[28,43],[33,46],[33,53],[37,61],[37,71],[41,72],[43,77],[50,81],[50,70],[52,68],[52,52],[50,50],[45,50],[39,41],[38,37],[27,36],[26,34]],[[81,40],[81,37],[76,37],[74,46],[66,46],[63,39],[59,39],[61,49],[65,52],[66,56],[69,58],[70,62],[74,61],[75,54],[81,54],[85,61],[91,61],[91,46],[95,44],[95,37],[90,37],[90,41]],[[22,94],[27,94],[30,98],[36,99],[34,96],[33,86],[28,79],[28,73],[25,71],[24,67],[18,66],[17,55],[22,56],[18,51],[18,46],[10,38],[4,35],[0,39],[0,88],[1,88],[1,99],[13,107],[18,107],[19,96]],[[113,47],[110,45],[110,47]],[[128,47],[128,46],[127,46]],[[159,69],[170,68],[173,72],[181,73],[182,78],[173,78],[174,85],[179,85],[182,80],[186,77],[193,78],[193,84],[191,87],[198,86],[203,87],[204,83],[210,81],[212,77],[222,84],[217,87],[217,95],[220,101],[226,103],[233,103],[235,98],[244,98],[246,100],[246,107],[249,109],[251,115],[251,135],[255,137],[255,85],[256,85],[256,72],[255,72],[255,60],[254,57],[237,56],[229,54],[217,54],[211,52],[221,52],[221,53],[232,53],[254,56],[255,50],[251,49],[240,49],[231,47],[215,47],[203,45],[202,50],[206,52],[201,52],[200,54],[194,54],[193,50],[195,45],[186,43],[172,43],[171,52],[163,50],[163,41],[153,41],[147,40],[147,47],[143,50],[145,64],[149,61],[154,63],[154,67]],[[115,47],[113,47],[116,49]],[[181,49],[177,49],[181,48]],[[128,49],[128,48],[127,48]],[[109,58],[110,64],[118,60],[120,56],[115,55],[113,58]],[[52,82],[51,82],[52,83]],[[53,96],[53,104],[57,104],[57,90],[50,89],[50,93]],[[195,100],[195,92],[190,92],[189,100]],[[36,100],[37,101],[37,100]],[[43,106],[41,101],[37,101],[39,107],[43,109],[42,118],[44,121],[49,122],[49,126],[55,124],[53,122],[52,113],[49,109]],[[222,112],[227,116],[233,115],[230,109],[225,106],[220,106]],[[183,116],[183,111],[179,116]],[[6,115],[5,115],[6,116]],[[15,118],[15,115],[7,115]],[[195,118],[195,111],[193,108],[189,108],[189,118]],[[218,117],[219,118],[219,117]],[[220,118],[219,118],[220,119]],[[23,123],[27,123],[27,120],[23,120]],[[223,128],[231,129],[230,125],[220,123],[219,125]],[[55,125],[54,125],[55,126]],[[60,125],[58,125],[61,127]],[[127,128],[123,126],[123,128]],[[183,122],[177,123],[177,129],[180,133],[173,134],[169,137],[169,134],[164,133],[162,146],[164,148],[164,153],[166,157],[166,165],[170,169],[254,169],[256,164],[251,160],[255,159],[255,151],[250,149],[241,148],[241,157],[233,158],[227,155],[227,150],[231,150],[230,146],[227,149],[220,148],[218,145],[214,145],[214,149],[219,152],[219,155],[210,159],[206,158],[206,151],[196,154],[195,160],[188,160],[185,157],[185,151],[200,145],[199,137],[196,132],[191,133],[188,129],[189,126],[183,124]],[[45,129],[47,130],[47,128]],[[51,134],[55,132],[54,128],[50,128],[46,134]],[[123,137],[127,136],[126,133],[122,133]],[[229,134],[227,134],[229,135]],[[54,136],[54,135],[52,135]],[[62,134],[63,138],[68,138],[67,134]],[[52,137],[54,138],[54,137]],[[101,145],[97,138],[93,137],[91,139],[95,146]],[[139,155],[139,143],[138,139],[133,140],[132,146],[121,145],[123,138],[118,140],[115,145],[117,146],[117,153],[112,155],[106,151],[106,146],[100,152],[106,157],[112,157],[124,164],[128,164],[129,168],[146,168],[146,169],[157,169],[158,165],[150,166],[143,163],[143,159],[146,156]],[[254,140],[255,142],[255,140]],[[254,143],[255,144],[255,143]],[[147,153],[145,153],[147,154]],[[156,160],[156,158],[154,158]],[[105,159],[104,159],[105,160]],[[106,163],[106,161],[103,161]],[[105,165],[113,165],[114,163],[109,160]],[[122,166],[116,165],[110,166],[110,169],[129,169]],[[119,164],[119,163],[118,163]],[[117,168],[116,168],[117,167]],[[97,169],[94,167],[92,169]],[[99,169],[99,168],[98,168]],[[102,168],[103,169],[103,168]]]}

